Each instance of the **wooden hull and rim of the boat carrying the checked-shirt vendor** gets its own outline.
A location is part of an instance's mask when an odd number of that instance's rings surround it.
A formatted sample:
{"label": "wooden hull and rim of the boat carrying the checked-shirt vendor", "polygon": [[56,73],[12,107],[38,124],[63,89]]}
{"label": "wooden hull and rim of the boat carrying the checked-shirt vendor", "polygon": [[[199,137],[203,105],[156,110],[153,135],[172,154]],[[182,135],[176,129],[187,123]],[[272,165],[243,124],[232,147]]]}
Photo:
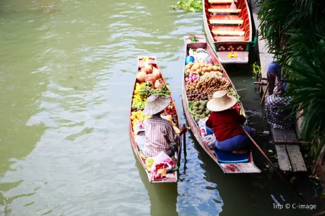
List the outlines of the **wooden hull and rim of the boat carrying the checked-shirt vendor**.
{"label": "wooden hull and rim of the boat carrying the checked-shirt vendor", "polygon": [[[149,56],[149,57],[143,57],[143,56],[139,56],[138,57],[138,67],[137,67],[137,71],[140,70],[140,64],[143,64],[144,62],[142,61],[143,58],[149,58],[149,63],[152,64],[152,66],[156,67],[157,69],[159,69],[158,65],[157,65],[157,61],[156,61],[156,57],[155,56]],[[161,77],[161,79],[164,80],[163,77]],[[165,80],[164,80],[165,81]],[[132,97],[135,94],[135,88],[136,88],[136,84],[138,83],[137,79],[135,79],[135,83],[134,83],[134,88],[133,88],[133,92],[132,92]],[[174,100],[172,98],[172,95],[169,94],[169,96],[171,97],[171,105],[173,106],[173,109],[175,110],[175,113],[177,115],[176,119],[177,119],[177,124],[176,127],[178,127],[180,129],[180,125],[179,125],[179,119],[178,119],[178,114],[177,114],[177,110],[175,109],[175,103]],[[159,181],[151,181],[150,179],[150,174],[146,168],[146,164],[145,164],[145,159],[142,157],[143,155],[141,154],[141,152],[139,151],[139,148],[137,146],[137,142],[135,140],[135,131],[133,130],[133,126],[132,126],[132,120],[131,120],[131,116],[132,116],[132,112],[136,111],[135,109],[132,108],[132,100],[131,100],[131,109],[130,109],[130,116],[129,116],[129,137],[131,140],[131,144],[132,144],[132,148],[133,151],[137,157],[137,159],[140,161],[142,167],[144,168],[144,170],[146,171],[147,175],[148,175],[148,179],[150,183],[176,183],[178,181],[178,173],[179,171],[174,171],[174,172],[170,172],[167,174],[167,178],[164,180],[159,180]],[[144,133],[144,132],[143,132]],[[143,134],[144,135],[144,134]],[[180,157],[181,157],[181,143],[177,143],[177,147],[176,147],[176,152],[175,152],[175,158],[177,159],[177,166],[180,166]]]}

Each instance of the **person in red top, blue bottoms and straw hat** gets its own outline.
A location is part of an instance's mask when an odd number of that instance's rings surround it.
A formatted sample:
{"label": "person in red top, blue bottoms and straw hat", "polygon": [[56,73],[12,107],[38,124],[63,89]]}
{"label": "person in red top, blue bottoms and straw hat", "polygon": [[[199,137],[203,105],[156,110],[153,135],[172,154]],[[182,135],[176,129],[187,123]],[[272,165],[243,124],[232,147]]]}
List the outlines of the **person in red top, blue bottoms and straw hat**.
{"label": "person in red top, blue bottoms and straw hat", "polygon": [[[206,126],[213,128],[218,150],[241,154],[246,152],[248,137],[241,127],[246,118],[238,114],[237,110],[231,109],[236,103],[236,97],[228,95],[226,91],[215,92],[207,103],[211,114]],[[245,127],[245,130],[252,135],[251,128]]]}

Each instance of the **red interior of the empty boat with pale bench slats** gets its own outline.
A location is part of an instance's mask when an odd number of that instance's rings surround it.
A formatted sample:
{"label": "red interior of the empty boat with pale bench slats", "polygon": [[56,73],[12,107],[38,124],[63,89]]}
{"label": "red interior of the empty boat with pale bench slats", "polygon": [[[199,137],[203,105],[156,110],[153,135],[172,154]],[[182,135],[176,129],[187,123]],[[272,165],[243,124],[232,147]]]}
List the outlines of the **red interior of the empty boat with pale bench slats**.
{"label": "red interior of the empty boat with pale bench slats", "polygon": [[250,41],[250,15],[246,0],[205,0],[205,13],[215,42]]}

